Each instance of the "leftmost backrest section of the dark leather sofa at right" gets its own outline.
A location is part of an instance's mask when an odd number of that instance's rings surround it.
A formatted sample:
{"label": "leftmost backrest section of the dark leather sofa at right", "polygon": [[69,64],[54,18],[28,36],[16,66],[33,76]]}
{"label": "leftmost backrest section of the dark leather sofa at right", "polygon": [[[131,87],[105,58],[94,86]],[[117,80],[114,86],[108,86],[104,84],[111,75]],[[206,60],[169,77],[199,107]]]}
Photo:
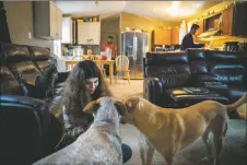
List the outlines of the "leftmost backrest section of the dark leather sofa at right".
{"label": "leftmost backrest section of the dark leather sofa at right", "polygon": [[158,78],[165,89],[183,86],[190,78],[188,56],[186,52],[149,54],[145,76]]}

